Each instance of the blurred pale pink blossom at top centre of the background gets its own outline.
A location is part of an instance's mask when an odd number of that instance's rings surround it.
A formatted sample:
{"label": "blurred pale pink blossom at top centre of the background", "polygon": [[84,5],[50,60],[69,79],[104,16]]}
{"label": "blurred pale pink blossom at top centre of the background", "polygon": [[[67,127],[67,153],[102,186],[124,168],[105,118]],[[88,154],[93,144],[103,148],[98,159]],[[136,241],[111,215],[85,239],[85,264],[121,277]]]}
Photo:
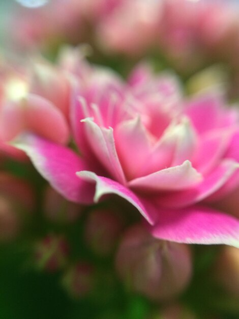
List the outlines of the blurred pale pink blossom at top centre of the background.
{"label": "blurred pale pink blossom at top centre of the background", "polygon": [[127,55],[140,55],[156,39],[161,6],[160,1],[154,0],[122,1],[116,10],[100,21],[97,30],[99,46]]}

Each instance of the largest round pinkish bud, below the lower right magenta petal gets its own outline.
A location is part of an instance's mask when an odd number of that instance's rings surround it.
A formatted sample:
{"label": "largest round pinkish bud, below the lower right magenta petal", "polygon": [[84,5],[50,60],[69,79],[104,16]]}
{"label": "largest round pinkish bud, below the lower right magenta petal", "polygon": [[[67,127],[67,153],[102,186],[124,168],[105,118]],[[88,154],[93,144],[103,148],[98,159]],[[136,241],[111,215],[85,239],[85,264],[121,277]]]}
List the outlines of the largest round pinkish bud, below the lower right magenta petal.
{"label": "largest round pinkish bud, below the lower right magenta petal", "polygon": [[169,299],[188,284],[189,246],[157,240],[142,226],[130,228],[116,255],[116,270],[129,288],[152,300]]}

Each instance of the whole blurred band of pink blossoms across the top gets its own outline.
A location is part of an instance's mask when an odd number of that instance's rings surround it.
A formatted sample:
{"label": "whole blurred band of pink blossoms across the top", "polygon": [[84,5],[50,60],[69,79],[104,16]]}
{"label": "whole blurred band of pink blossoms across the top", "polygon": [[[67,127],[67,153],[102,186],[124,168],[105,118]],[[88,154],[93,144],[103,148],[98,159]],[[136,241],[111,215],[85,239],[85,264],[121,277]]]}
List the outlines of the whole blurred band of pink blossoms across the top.
{"label": "whole blurred band of pink blossoms across the top", "polygon": [[187,69],[205,59],[238,67],[238,10],[213,0],[55,0],[16,10],[8,29],[18,47],[85,41],[130,56],[157,48]]}

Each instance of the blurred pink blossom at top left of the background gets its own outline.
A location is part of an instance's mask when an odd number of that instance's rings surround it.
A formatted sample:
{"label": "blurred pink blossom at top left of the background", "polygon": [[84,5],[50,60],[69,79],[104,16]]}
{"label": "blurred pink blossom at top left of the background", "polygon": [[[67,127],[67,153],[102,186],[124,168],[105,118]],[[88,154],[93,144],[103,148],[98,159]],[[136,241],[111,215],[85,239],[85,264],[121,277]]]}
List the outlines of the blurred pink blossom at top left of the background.
{"label": "blurred pink blossom at top left of the background", "polygon": [[45,6],[15,8],[8,25],[10,45],[19,49],[49,48],[59,43],[78,44],[90,38],[98,21],[122,0],[54,0]]}

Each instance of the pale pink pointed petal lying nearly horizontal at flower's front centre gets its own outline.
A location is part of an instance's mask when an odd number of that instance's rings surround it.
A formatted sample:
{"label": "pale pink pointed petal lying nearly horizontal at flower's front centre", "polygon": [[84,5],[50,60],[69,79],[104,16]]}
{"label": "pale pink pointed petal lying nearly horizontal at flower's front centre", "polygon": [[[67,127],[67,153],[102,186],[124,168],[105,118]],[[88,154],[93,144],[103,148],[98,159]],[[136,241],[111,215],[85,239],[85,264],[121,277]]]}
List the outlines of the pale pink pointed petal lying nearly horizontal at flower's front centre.
{"label": "pale pink pointed petal lying nearly horizontal at flower's front centre", "polygon": [[185,161],[182,165],[135,178],[129,182],[129,186],[146,191],[175,191],[193,187],[201,180],[202,175],[192,167],[190,161]]}

